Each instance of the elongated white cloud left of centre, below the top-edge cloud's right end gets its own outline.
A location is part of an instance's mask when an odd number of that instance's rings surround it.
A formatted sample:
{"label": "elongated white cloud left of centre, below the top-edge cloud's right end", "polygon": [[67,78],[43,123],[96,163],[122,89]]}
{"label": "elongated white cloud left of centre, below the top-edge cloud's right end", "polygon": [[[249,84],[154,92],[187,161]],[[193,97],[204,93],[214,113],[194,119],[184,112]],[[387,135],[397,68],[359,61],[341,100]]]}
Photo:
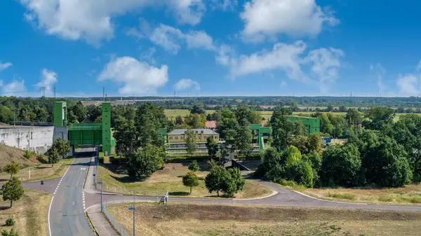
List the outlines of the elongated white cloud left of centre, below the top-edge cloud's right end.
{"label": "elongated white cloud left of centre, below the top-edge cloud's right end", "polygon": [[148,38],[152,43],[161,46],[169,53],[177,54],[182,43],[185,43],[189,49],[216,50],[212,37],[204,31],[183,33],[180,29],[163,24],[150,30],[146,22],[141,22],[141,24],[141,32],[137,29],[130,29],[128,34],[140,39]]}

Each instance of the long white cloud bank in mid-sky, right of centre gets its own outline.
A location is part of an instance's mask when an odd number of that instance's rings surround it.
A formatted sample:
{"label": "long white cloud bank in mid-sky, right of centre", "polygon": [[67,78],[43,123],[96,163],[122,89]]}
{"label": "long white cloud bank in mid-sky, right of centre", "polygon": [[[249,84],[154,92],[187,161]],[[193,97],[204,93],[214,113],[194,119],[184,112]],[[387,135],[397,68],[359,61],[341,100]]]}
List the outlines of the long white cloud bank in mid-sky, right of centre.
{"label": "long white cloud bank in mid-sky, right of centre", "polygon": [[[335,48],[319,48],[305,55],[306,48],[302,41],[275,43],[272,50],[236,56],[232,48],[221,46],[216,62],[229,67],[232,78],[277,69],[294,80],[316,83],[326,92],[328,85],[339,78],[340,58],[345,53]],[[308,75],[304,67],[309,67]]]}

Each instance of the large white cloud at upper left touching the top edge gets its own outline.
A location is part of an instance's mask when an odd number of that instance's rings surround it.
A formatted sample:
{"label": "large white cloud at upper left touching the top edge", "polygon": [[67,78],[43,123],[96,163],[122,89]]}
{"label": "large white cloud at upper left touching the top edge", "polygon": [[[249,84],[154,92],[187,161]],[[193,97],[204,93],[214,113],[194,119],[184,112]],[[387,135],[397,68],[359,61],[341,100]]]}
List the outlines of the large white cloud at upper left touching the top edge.
{"label": "large white cloud at upper left touching the top edge", "polygon": [[64,39],[85,39],[98,45],[114,37],[112,18],[148,6],[166,6],[178,22],[196,25],[205,6],[201,0],[20,0],[27,8],[25,18],[44,29],[46,34]]}

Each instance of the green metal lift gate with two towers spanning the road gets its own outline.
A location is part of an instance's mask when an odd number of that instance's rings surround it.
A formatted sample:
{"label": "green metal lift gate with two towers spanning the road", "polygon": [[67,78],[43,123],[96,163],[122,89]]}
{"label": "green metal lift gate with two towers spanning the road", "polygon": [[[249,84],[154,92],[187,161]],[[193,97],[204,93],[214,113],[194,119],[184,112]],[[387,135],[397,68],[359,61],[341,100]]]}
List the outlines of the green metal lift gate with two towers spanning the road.
{"label": "green metal lift gate with two towers spanning the road", "polygon": [[[66,102],[55,102],[54,126],[67,125],[67,104]],[[102,152],[105,155],[111,154],[114,146],[111,132],[111,104],[102,103],[102,123],[74,123],[67,127],[70,145],[99,145],[102,144]]]}

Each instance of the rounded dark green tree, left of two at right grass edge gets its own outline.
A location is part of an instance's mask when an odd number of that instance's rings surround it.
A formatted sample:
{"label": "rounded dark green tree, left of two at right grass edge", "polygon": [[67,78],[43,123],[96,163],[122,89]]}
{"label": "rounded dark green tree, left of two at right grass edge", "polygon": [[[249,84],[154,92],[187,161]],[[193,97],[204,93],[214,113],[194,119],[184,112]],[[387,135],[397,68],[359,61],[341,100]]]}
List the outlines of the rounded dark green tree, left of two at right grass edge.
{"label": "rounded dark green tree, left of two at right grass edge", "polygon": [[334,183],[338,186],[359,186],[361,181],[361,158],[354,144],[345,146],[328,146],[323,151],[321,177],[323,183]]}

